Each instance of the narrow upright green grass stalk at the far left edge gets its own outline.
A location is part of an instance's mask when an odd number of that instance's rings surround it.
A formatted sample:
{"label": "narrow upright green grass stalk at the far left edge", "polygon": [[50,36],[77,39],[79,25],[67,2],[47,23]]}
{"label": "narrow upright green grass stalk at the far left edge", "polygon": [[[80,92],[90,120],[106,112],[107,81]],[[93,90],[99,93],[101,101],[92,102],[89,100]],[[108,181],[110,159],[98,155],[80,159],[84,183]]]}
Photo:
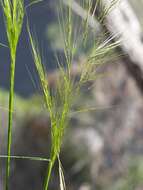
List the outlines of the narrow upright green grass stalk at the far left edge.
{"label": "narrow upright green grass stalk at the far left edge", "polygon": [[13,107],[14,107],[14,78],[16,50],[19,41],[23,17],[24,2],[23,0],[1,0],[4,13],[4,21],[8,39],[8,47],[10,50],[10,90],[9,90],[9,117],[8,117],[8,137],[7,137],[7,163],[6,163],[6,180],[5,189],[8,190],[8,181],[10,175],[10,155],[12,141],[12,125],[13,125]]}

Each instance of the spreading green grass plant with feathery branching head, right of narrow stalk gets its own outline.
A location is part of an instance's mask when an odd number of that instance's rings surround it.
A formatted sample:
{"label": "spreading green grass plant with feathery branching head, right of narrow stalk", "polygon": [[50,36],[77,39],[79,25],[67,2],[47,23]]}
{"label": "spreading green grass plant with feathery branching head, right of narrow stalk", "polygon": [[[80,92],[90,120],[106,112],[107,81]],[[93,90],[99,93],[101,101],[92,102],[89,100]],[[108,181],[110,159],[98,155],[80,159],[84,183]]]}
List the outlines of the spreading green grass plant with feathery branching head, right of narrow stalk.
{"label": "spreading green grass plant with feathery branching head, right of narrow stalk", "polygon": [[[113,2],[111,2],[108,11],[114,5]],[[80,23],[75,25],[77,18],[72,12],[72,3],[73,1],[70,0],[69,6],[63,7],[63,2],[60,1],[59,23],[64,39],[65,65],[59,58],[57,58],[60,76],[57,81],[57,88],[54,89],[54,91],[51,91],[51,88],[49,87],[46,70],[44,69],[44,62],[42,60],[38,44],[28,26],[33,59],[39,75],[45,105],[51,120],[50,161],[48,163],[44,179],[43,190],[48,190],[49,188],[50,177],[56,160],[59,162],[60,188],[61,190],[65,189],[65,181],[60,161],[60,150],[65,130],[68,127],[69,113],[72,108],[74,98],[80,93],[80,88],[83,84],[96,78],[96,67],[103,63],[103,57],[105,58],[108,56],[108,53],[119,45],[118,42],[112,43],[112,39],[108,39],[97,46],[95,43],[96,39],[93,39],[87,58],[80,68],[79,80],[75,81],[72,77],[71,70],[79,48],[79,44],[77,42],[78,39],[81,39],[80,45],[83,47],[86,46],[88,41],[88,18],[89,16],[94,15],[98,5],[96,3],[95,8],[93,9],[94,12],[92,12],[92,1],[80,1],[80,4],[83,7],[86,7],[87,15],[84,22],[81,20]],[[100,3],[100,1],[98,1],[98,3]],[[102,22],[103,16],[106,15],[107,9],[104,10],[102,19],[100,18]],[[75,28],[75,26],[78,26],[78,28]],[[77,33],[77,31],[79,31],[79,33]]]}

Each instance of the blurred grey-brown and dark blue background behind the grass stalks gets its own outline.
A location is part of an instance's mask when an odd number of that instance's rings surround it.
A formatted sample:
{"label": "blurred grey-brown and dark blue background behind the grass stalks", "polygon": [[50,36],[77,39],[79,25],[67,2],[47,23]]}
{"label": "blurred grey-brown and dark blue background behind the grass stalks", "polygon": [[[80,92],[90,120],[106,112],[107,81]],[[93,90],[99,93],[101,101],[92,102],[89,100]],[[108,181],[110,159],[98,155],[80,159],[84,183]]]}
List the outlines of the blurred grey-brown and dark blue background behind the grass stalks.
{"label": "blurred grey-brown and dark blue background behind the grass stalks", "polygon": [[[68,190],[143,189],[143,1],[119,1],[121,4],[106,15],[104,23],[98,23],[96,34],[89,25],[88,46],[101,33],[106,33],[107,38],[115,36],[113,40],[117,36],[121,43],[114,58],[104,60],[99,77],[87,83],[74,102],[73,110],[95,109],[73,114],[70,119],[61,150]],[[28,4],[26,0],[25,6]],[[64,54],[57,11],[58,0],[45,0],[27,8],[51,88],[56,85],[58,72],[55,54]],[[74,8],[73,12],[78,14]],[[12,154],[48,157],[50,121],[31,56],[26,19],[17,51]],[[104,41],[105,36],[99,38]],[[7,44],[1,9],[0,42]],[[84,62],[88,46],[79,49],[75,62]],[[9,71],[8,48],[0,47],[0,154],[6,154]],[[5,159],[0,164],[3,189]],[[46,166],[44,162],[12,160],[10,189],[42,189]],[[59,189],[57,166],[50,189]]]}

